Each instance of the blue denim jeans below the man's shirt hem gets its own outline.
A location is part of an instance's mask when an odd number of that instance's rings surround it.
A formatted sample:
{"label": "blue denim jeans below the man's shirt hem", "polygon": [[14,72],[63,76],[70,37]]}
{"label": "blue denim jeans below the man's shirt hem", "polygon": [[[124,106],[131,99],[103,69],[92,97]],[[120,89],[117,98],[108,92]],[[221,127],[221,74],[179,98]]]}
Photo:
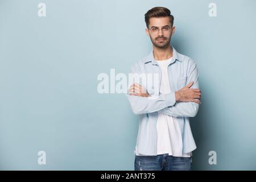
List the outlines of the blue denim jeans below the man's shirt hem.
{"label": "blue denim jeans below the man's shirt hem", "polygon": [[191,171],[191,158],[174,157],[168,154],[135,155],[135,171]]}

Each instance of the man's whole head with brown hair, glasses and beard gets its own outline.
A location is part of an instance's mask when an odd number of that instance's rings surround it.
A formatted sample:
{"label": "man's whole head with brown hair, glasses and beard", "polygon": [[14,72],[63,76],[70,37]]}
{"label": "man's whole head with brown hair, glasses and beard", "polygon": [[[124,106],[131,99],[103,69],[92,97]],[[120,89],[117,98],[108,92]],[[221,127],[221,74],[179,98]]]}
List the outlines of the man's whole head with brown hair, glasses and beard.
{"label": "man's whole head with brown hair, glasses and beard", "polygon": [[174,16],[165,7],[154,7],[145,14],[146,34],[158,48],[170,46],[171,36],[175,32]]}

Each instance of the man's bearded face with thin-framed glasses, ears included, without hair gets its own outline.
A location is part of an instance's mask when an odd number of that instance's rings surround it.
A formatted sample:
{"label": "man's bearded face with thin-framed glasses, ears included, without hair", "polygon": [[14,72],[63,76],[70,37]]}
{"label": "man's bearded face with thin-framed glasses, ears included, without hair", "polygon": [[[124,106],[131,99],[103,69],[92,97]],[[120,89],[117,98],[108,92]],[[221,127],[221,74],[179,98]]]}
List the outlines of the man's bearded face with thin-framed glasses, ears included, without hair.
{"label": "man's bearded face with thin-framed glasses, ears included, without hair", "polygon": [[175,27],[171,27],[170,18],[150,18],[150,24],[146,28],[146,34],[150,36],[151,42],[158,48],[170,46],[171,36],[175,32]]}

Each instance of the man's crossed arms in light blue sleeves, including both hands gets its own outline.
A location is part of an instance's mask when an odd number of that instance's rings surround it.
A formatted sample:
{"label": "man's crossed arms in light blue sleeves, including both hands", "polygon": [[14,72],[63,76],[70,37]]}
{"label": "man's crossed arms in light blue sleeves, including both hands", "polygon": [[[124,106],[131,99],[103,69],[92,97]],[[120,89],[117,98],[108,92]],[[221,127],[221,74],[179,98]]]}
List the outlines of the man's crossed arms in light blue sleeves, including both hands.
{"label": "man's crossed arms in light blue sleeves, including both hands", "polygon": [[[131,67],[131,73],[139,73],[138,68]],[[139,89],[141,85],[131,85],[128,90],[127,98],[133,113],[145,114],[159,111],[163,114],[175,117],[195,117],[199,110],[199,99],[201,97],[198,83],[199,73],[195,62],[191,64],[187,76],[187,82],[189,82],[189,84],[182,88],[187,92],[179,92],[182,91],[181,89],[178,92],[160,94],[160,96],[156,98],[151,98],[151,96],[144,92],[142,87]],[[193,93],[193,95],[191,93]]]}

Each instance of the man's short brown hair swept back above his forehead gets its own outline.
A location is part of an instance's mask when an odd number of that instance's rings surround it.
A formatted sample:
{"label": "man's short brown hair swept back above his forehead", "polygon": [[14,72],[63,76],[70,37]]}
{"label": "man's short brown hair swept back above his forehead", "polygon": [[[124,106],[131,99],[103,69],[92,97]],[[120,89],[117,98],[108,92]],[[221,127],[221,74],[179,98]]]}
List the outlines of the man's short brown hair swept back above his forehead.
{"label": "man's short brown hair swept back above his forehead", "polygon": [[145,22],[147,28],[149,28],[150,24],[150,18],[158,18],[158,17],[170,17],[170,23],[171,26],[174,25],[174,16],[171,15],[171,11],[167,9],[166,7],[153,7],[151,10],[148,10],[147,13],[145,14]]}

